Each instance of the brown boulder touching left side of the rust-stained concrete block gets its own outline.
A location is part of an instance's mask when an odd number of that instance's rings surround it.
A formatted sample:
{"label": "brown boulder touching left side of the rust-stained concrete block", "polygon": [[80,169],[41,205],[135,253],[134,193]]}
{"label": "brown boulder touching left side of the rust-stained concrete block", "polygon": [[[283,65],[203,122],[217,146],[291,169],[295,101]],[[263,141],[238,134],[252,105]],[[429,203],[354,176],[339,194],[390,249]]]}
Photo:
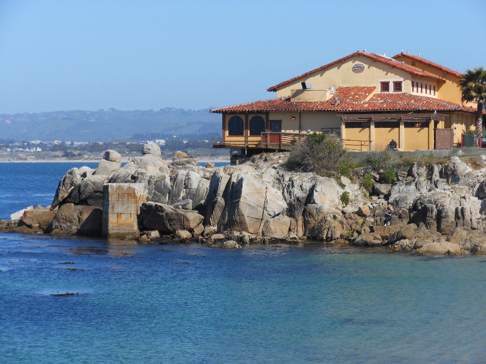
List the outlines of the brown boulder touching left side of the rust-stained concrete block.
{"label": "brown boulder touching left side of the rust-stained concrete block", "polygon": [[93,206],[64,204],[46,229],[48,233],[101,235],[102,210]]}

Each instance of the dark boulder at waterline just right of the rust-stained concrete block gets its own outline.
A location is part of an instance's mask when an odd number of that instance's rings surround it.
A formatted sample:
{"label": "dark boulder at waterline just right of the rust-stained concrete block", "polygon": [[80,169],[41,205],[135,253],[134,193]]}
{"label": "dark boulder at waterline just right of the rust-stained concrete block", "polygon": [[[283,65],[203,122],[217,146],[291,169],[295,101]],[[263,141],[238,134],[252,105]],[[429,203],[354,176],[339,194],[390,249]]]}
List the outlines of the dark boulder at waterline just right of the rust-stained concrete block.
{"label": "dark boulder at waterline just right of the rust-stained concrete block", "polygon": [[204,219],[193,211],[178,210],[169,205],[153,202],[143,203],[140,214],[145,229],[164,233],[175,233],[177,230],[194,231]]}

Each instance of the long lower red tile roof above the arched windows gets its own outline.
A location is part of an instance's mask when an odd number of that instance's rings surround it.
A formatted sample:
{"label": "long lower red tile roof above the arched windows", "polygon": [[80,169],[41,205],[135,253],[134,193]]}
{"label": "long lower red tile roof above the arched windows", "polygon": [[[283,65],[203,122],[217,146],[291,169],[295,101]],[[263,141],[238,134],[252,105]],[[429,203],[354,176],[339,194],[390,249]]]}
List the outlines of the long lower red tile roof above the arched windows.
{"label": "long lower red tile roof above the arched windows", "polygon": [[[465,111],[475,113],[476,109],[458,105],[449,101],[434,99],[426,96],[410,95],[406,93],[374,94],[375,87],[340,87],[335,97],[328,101],[291,101],[287,99],[271,99],[249,102],[246,104],[212,109],[213,113],[222,112],[266,112],[266,111]],[[483,111],[486,113],[486,111]]]}

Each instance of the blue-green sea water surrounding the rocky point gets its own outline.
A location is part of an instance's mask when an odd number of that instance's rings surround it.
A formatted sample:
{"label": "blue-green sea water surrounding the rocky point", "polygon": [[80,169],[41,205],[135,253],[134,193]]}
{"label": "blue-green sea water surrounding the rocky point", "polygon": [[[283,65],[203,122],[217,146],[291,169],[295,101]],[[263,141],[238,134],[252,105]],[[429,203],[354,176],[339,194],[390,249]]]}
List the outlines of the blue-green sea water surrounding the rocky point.
{"label": "blue-green sea water surrounding the rocky point", "polygon": [[[11,165],[2,216],[76,166]],[[485,288],[480,256],[1,233],[0,362],[483,363]]]}

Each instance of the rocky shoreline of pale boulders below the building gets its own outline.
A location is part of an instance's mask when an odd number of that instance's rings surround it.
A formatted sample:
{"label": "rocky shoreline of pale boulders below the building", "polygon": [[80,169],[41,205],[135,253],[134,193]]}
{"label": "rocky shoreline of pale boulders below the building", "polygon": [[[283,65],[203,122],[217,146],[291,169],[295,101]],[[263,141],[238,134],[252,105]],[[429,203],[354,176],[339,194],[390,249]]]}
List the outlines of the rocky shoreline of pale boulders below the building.
{"label": "rocky shoreline of pale boulders below the building", "polygon": [[[391,184],[376,174],[371,192],[359,176],[290,172],[286,158],[267,153],[240,166],[199,167],[182,152],[165,161],[158,146],[147,143],[141,157],[121,168],[121,156],[108,150],[95,170],[68,171],[51,206],[13,214],[12,221],[0,221],[0,231],[153,242],[170,237],[222,248],[312,239],[412,254],[486,254],[484,155],[477,170],[451,157],[428,168],[415,163]],[[112,209],[108,185],[138,186],[132,231],[114,235],[103,226]],[[392,219],[384,226],[387,209]]]}

